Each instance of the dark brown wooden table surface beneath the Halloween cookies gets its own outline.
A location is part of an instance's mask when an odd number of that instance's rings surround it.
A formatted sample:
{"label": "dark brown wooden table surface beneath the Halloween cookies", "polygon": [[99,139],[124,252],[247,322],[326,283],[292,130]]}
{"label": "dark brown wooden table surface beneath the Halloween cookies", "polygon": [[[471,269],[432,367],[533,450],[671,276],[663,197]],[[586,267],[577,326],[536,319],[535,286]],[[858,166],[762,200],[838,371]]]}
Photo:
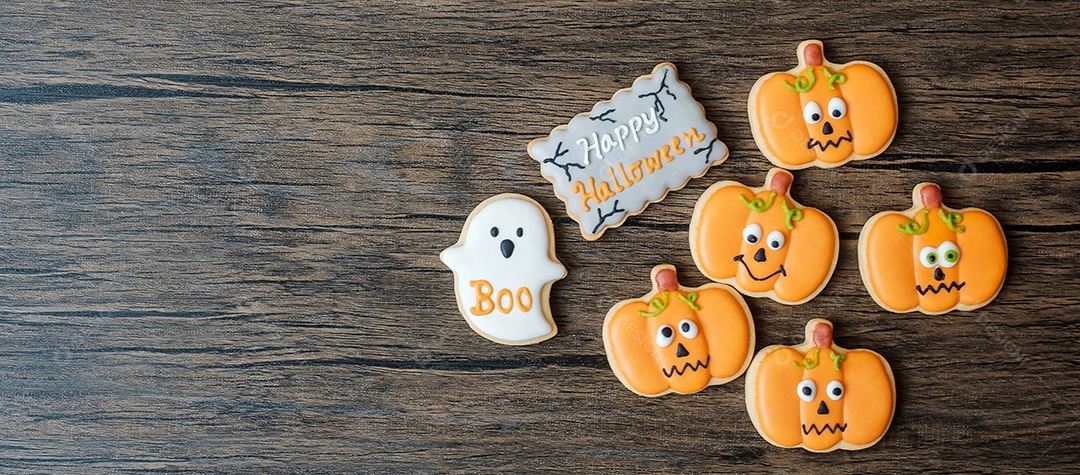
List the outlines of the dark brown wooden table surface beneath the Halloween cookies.
{"label": "dark brown wooden table surface beneath the Halloween cookies", "polygon": [[[1080,470],[1080,4],[306,3],[0,4],[0,472]],[[693,204],[764,179],[746,94],[805,39],[888,71],[900,127],[796,173],[840,230],[824,291],[747,302],[758,349],[821,316],[889,359],[892,428],[855,452],[769,445],[742,378],[637,396],[600,337],[654,264],[707,282]],[[665,60],[731,157],[586,242],[526,146]],[[1003,225],[988,307],[864,289],[862,223],[920,181]],[[473,332],[438,260],[499,192],[569,269],[535,345]]]}

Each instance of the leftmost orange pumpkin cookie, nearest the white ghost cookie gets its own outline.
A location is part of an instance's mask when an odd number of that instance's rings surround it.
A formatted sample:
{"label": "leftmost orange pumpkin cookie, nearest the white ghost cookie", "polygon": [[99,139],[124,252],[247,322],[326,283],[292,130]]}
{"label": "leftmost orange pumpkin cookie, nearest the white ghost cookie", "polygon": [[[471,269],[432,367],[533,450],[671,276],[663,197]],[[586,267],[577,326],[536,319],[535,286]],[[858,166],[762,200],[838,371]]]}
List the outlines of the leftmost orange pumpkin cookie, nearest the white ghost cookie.
{"label": "leftmost orange pumpkin cookie, nearest the white ghost cookie", "polygon": [[643,396],[689,394],[742,375],[754,353],[754,320],[726,285],[687,288],[675,267],[652,269],[652,291],[623,300],[604,320],[611,370]]}

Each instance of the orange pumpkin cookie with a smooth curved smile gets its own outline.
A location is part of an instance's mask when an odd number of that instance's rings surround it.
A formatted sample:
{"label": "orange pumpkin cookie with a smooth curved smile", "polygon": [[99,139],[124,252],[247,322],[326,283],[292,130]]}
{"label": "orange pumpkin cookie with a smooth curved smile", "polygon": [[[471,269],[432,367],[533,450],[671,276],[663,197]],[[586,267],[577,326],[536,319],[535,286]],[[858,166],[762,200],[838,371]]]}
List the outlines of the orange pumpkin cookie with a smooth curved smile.
{"label": "orange pumpkin cookie with a smooth curved smile", "polygon": [[832,218],[791,196],[793,178],[772,168],[760,188],[719,181],[702,193],[690,220],[690,254],[705,276],[786,304],[825,288],[839,233]]}

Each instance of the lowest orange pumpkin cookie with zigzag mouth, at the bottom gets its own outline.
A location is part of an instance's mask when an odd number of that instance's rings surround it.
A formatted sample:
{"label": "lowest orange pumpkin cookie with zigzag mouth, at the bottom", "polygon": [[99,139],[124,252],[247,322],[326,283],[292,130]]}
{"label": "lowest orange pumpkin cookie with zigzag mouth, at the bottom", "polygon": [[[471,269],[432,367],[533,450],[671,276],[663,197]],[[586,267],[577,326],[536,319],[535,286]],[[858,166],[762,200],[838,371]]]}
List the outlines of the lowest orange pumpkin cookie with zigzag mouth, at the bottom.
{"label": "lowest orange pumpkin cookie with zigzag mouth, at the bottom", "polygon": [[896,382],[870,350],[833,342],[833,324],[807,323],[806,341],[772,345],[746,370],[746,410],[770,444],[813,452],[877,444],[892,423]]}

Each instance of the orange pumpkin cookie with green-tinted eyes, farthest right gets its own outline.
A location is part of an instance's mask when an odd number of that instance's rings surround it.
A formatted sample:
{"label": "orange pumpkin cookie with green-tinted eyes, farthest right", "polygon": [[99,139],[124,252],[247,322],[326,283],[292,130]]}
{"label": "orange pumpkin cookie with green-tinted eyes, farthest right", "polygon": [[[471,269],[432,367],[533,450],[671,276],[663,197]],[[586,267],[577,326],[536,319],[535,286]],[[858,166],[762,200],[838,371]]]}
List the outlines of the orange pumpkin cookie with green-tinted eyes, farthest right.
{"label": "orange pumpkin cookie with green-tinted eyes, farthest right", "polygon": [[1005,282],[1009,250],[1001,225],[978,208],[942,204],[934,184],[919,184],[915,205],[872,217],[859,235],[859,270],[879,306],[935,315],[974,310]]}

